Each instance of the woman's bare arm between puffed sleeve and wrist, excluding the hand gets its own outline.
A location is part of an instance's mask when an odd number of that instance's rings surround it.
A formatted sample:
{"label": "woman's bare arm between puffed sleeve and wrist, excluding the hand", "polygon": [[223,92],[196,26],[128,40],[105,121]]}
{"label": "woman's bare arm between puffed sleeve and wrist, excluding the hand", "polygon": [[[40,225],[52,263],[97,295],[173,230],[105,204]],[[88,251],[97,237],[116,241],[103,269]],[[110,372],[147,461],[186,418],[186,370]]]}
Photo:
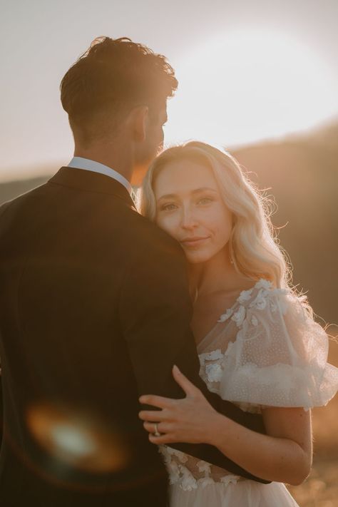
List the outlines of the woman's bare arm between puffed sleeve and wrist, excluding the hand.
{"label": "woman's bare arm between puffed sleeve and wrist, excluding the hand", "polygon": [[312,465],[309,411],[271,407],[263,410],[263,419],[267,435],[214,414],[205,428],[208,441],[250,473],[268,481],[302,483]]}

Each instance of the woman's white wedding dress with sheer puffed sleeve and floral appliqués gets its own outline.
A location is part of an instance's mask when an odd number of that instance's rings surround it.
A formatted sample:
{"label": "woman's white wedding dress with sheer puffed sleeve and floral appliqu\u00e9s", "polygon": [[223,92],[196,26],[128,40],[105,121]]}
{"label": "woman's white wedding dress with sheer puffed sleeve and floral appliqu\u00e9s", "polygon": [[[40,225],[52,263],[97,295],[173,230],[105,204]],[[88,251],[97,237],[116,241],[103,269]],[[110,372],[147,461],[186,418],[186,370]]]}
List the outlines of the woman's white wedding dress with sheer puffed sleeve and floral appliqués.
{"label": "woman's white wedding dress with sheer puffed sleeve and floral appliqu\u00e9s", "polygon": [[[328,338],[302,298],[267,280],[240,297],[198,344],[208,389],[244,411],[327,404],[338,369],[327,364]],[[295,507],[282,483],[257,483],[160,446],[170,478],[170,507]],[[257,459],[259,459],[257,457]]]}

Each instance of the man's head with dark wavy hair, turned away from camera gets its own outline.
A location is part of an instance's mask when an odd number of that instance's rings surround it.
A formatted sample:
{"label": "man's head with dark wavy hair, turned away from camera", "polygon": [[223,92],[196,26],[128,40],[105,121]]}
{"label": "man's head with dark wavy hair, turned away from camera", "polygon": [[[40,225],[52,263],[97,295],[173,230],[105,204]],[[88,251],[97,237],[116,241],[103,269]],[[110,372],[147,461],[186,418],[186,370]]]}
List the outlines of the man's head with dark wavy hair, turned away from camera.
{"label": "man's head with dark wavy hair, turned away from camera", "polygon": [[177,86],[164,56],[127,38],[96,39],[61,81],[76,146],[113,144],[123,132],[135,165],[145,165],[163,143],[166,101]]}

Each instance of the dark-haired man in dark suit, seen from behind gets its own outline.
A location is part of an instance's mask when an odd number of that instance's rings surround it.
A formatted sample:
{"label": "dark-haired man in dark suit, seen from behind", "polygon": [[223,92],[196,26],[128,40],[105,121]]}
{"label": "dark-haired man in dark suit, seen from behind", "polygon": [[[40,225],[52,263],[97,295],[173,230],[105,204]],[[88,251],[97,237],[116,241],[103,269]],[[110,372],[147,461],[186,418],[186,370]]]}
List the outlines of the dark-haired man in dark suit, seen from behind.
{"label": "dark-haired man in dark suit, seen from behind", "polygon": [[[177,84],[145,46],[94,41],[61,82],[74,158],[0,208],[1,506],[165,506],[138,397],[183,397],[173,364],[217,411],[263,431],[200,379],[183,250],[130,197]],[[211,446],[173,446],[253,478]]]}

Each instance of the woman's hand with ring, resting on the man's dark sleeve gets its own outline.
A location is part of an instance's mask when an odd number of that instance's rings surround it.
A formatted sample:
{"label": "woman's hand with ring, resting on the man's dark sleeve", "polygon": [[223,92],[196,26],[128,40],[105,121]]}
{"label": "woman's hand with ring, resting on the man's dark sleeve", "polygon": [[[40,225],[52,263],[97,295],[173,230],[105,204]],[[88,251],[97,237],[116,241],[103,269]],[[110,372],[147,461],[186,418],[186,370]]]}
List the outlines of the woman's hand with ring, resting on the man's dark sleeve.
{"label": "woman's hand with ring, resting on the man's dark sleeve", "polygon": [[[153,444],[170,444],[170,442],[208,444],[212,436],[212,421],[218,416],[217,411],[205,399],[200,389],[195,387],[176,366],[173,367],[173,377],[185,391],[185,398],[140,396],[140,403],[162,409],[139,413],[140,419],[145,421],[143,426],[149,432],[150,442]],[[156,427],[160,436],[154,435]]]}

